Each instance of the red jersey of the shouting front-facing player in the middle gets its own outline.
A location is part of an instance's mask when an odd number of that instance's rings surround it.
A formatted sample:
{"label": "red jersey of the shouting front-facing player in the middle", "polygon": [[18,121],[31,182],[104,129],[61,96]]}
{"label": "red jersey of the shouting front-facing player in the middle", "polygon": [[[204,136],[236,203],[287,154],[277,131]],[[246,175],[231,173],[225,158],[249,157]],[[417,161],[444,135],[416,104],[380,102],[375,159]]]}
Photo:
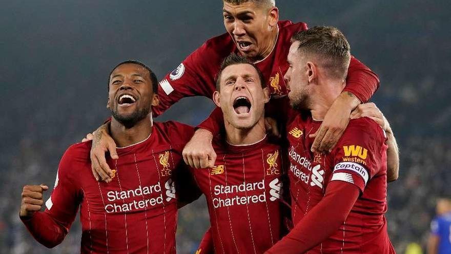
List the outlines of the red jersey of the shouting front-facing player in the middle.
{"label": "red jersey of the shouting front-facing player in the middle", "polygon": [[216,166],[192,172],[207,199],[215,253],[263,253],[284,232],[282,150],[266,138],[246,146],[215,139],[213,147]]}

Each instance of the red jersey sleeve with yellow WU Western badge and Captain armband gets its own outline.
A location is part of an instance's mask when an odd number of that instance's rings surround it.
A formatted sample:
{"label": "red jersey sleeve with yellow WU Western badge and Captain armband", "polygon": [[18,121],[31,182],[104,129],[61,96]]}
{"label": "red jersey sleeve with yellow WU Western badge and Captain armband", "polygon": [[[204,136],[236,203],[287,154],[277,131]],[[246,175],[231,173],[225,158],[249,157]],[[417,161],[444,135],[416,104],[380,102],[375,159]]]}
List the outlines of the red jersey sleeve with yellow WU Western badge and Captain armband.
{"label": "red jersey sleeve with yellow WU Western badge and Captain armband", "polygon": [[382,168],[386,168],[386,151],[382,129],[369,118],[351,120],[334,148],[334,169],[331,181],[365,186]]}

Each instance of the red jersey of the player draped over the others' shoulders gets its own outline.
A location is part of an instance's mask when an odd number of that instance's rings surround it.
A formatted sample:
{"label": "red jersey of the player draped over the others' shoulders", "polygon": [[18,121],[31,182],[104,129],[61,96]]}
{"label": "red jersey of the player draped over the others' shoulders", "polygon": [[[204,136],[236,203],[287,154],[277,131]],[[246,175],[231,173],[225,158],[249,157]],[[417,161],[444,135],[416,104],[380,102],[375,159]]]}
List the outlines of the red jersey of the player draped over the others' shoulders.
{"label": "red jersey of the player draped over the others' shoulders", "polygon": [[[283,100],[270,101],[266,108],[268,115],[280,115],[278,114],[280,105],[288,104],[286,96],[288,92],[283,80],[283,75],[288,70],[286,57],[293,34],[306,29],[307,25],[302,22],[293,24],[291,21],[279,21],[277,42],[273,50],[266,58],[255,63],[263,73],[265,83],[271,91],[271,97],[283,98]],[[191,53],[174,71],[160,81],[158,86],[160,103],[153,108],[155,115],[163,113],[183,97],[200,95],[211,99],[221,63],[232,52],[239,51],[230,34],[224,33],[211,38]],[[344,90],[354,93],[362,102],[366,102],[378,86],[377,75],[352,57]]]}

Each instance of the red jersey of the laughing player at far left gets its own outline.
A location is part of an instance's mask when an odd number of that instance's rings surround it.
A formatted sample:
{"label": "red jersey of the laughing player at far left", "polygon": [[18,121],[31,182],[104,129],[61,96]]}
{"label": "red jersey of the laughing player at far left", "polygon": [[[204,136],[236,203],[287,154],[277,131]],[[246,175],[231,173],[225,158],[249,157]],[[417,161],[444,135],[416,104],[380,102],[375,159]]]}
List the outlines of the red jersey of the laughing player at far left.
{"label": "red jersey of the laughing player at far left", "polygon": [[[173,179],[182,169],[181,149],[189,133],[193,128],[184,124],[154,123],[148,139],[117,148],[118,160],[107,159],[116,170],[110,183],[92,175],[91,142],[72,145],[60,161],[47,209],[24,223],[36,240],[54,246],[64,239],[80,207],[81,253],[176,253]],[[54,240],[43,236],[43,230],[52,228],[46,221],[62,226]]]}

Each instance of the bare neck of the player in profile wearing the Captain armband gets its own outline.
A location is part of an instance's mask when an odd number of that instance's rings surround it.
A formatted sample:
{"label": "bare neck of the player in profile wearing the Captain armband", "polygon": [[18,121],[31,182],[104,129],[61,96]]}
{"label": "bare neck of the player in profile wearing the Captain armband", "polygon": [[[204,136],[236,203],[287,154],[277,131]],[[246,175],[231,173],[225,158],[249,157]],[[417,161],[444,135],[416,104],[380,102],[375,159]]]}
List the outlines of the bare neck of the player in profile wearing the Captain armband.
{"label": "bare neck of the player in profile wearing the Captain armband", "polygon": [[344,88],[344,81],[324,80],[316,84],[317,92],[311,101],[312,118],[314,120],[323,120],[327,111],[332,107],[337,97]]}

